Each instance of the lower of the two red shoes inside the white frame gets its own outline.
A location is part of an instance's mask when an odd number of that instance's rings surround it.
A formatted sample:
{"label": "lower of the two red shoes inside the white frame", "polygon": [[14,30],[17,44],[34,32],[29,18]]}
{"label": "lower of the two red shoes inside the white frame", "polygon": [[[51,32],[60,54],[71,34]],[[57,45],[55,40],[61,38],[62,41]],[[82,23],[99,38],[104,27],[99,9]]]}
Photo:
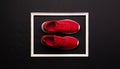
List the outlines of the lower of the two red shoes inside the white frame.
{"label": "lower of the two red shoes inside the white frame", "polygon": [[71,36],[56,36],[56,35],[44,35],[41,38],[41,42],[49,47],[58,48],[61,50],[72,50],[79,44],[79,40]]}

